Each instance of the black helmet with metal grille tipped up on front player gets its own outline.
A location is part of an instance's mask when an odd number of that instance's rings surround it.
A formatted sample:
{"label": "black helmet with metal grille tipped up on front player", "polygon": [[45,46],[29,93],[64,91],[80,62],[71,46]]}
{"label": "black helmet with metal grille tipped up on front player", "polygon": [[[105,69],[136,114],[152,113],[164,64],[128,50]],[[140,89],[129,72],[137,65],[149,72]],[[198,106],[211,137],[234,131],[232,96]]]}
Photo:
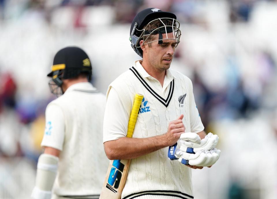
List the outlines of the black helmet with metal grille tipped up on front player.
{"label": "black helmet with metal grille tipped up on front player", "polygon": [[[165,24],[165,20],[169,20],[170,24]],[[158,28],[147,29],[147,27],[151,26],[151,23],[156,21],[160,21],[160,25]],[[134,51],[142,57],[142,45],[156,41],[158,41],[158,44],[162,44],[163,40],[171,39],[168,38],[167,33],[174,33],[173,39],[171,40],[176,40],[178,45],[181,36],[181,31],[179,27],[180,23],[176,20],[175,14],[171,12],[164,12],[158,8],[147,8],[145,10],[142,10],[135,16],[131,25],[129,40]],[[162,36],[162,34],[164,33],[166,33],[166,38],[163,38]],[[150,35],[154,34],[159,34],[158,40],[147,42],[147,39],[150,37]],[[140,41],[143,39],[143,44],[140,45]]]}

